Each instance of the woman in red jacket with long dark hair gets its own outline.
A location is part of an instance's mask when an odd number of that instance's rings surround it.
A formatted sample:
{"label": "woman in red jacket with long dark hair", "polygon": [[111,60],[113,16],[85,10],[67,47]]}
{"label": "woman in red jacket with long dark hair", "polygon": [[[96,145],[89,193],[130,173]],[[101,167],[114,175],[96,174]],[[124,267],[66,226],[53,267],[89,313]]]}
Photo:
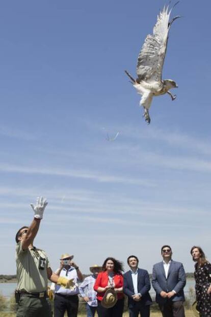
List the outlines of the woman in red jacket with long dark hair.
{"label": "woman in red jacket with long dark hair", "polygon": [[[123,276],[122,263],[113,257],[108,257],[102,265],[102,272],[98,274],[94,284],[97,292],[97,313],[98,317],[122,317],[124,308],[124,296],[122,292]],[[117,302],[111,308],[105,308],[101,301],[108,288],[113,288],[117,293]]]}

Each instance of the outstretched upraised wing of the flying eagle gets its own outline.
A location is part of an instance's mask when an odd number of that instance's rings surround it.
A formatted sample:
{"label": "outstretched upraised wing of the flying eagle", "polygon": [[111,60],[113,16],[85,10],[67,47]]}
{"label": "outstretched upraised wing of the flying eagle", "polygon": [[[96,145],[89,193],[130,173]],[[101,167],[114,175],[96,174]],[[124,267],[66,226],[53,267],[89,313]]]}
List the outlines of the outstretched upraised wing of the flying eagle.
{"label": "outstretched upraised wing of the flying eagle", "polygon": [[142,49],[138,56],[137,81],[160,82],[162,80],[162,70],[166,55],[168,33],[172,22],[178,18],[176,16],[169,22],[171,10],[169,7],[163,9],[157,16],[154,25],[153,35],[147,35]]}

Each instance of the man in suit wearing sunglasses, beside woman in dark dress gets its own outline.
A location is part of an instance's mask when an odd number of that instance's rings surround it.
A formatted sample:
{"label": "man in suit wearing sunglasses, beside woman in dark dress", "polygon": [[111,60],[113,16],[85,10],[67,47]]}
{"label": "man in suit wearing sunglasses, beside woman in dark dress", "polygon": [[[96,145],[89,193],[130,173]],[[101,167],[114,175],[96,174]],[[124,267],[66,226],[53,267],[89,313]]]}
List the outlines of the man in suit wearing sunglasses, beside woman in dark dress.
{"label": "man in suit wearing sunglasses, beside woman in dark dress", "polygon": [[186,273],[182,263],[173,261],[170,246],[161,248],[163,261],[152,270],[152,286],[156,292],[163,317],[184,317],[184,292]]}

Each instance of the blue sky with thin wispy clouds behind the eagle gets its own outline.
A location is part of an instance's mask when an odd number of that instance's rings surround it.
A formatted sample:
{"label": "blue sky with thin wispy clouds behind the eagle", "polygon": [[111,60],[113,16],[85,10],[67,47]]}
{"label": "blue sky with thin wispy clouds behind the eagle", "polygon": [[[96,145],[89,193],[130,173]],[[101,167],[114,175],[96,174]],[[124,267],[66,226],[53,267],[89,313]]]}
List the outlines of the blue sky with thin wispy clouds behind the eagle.
{"label": "blue sky with thin wispy clouds behind the eagle", "polygon": [[[130,254],[152,271],[160,248],[193,271],[211,260],[210,3],[181,1],[146,125],[135,76],[139,50],[165,2],[15,1],[0,4],[1,274],[15,274],[14,236],[48,199],[35,245],[56,270],[74,254],[83,273]],[[107,134],[114,141],[107,141]]]}

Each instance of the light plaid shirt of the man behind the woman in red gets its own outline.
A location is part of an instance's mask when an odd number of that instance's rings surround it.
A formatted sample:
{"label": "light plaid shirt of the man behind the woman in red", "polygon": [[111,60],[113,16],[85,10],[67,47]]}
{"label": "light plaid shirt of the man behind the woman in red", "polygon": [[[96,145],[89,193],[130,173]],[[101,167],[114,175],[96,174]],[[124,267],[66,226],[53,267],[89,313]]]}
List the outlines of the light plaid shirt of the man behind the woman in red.
{"label": "light plaid shirt of the man behind the woman in red", "polygon": [[84,279],[84,282],[79,286],[79,292],[81,297],[89,297],[90,301],[88,304],[90,306],[97,306],[97,292],[95,292],[93,286],[95,284],[96,277],[90,275]]}

